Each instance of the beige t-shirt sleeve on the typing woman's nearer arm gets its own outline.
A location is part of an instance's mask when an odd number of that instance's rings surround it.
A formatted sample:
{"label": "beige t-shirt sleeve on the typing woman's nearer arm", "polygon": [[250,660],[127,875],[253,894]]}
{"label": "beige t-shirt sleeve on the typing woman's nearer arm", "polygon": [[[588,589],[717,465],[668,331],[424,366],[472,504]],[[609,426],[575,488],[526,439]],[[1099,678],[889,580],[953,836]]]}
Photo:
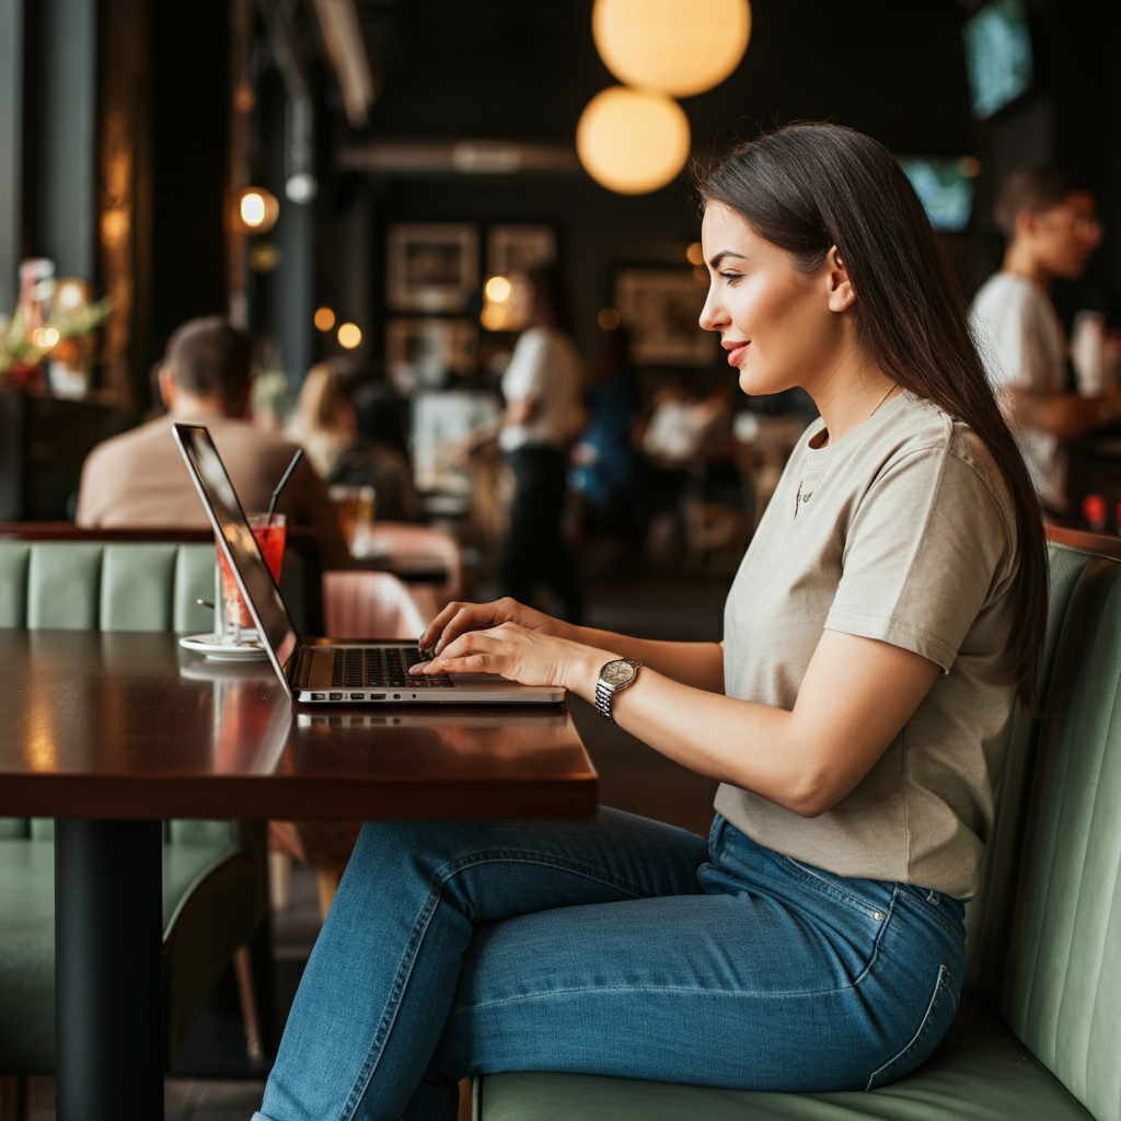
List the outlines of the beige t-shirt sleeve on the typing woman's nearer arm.
{"label": "beige t-shirt sleeve on the typing woman's nearer arm", "polygon": [[1001,511],[976,471],[942,447],[912,452],[861,500],[825,627],[948,671],[1007,550]]}

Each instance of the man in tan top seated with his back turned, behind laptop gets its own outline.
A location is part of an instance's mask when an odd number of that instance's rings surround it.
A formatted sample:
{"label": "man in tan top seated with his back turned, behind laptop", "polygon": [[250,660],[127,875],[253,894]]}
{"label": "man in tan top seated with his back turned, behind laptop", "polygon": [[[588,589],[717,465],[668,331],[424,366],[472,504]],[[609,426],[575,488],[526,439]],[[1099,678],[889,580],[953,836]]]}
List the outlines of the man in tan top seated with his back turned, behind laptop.
{"label": "man in tan top seated with his back turned, behind laptop", "polygon": [[[170,337],[158,374],[167,414],[99,444],[82,465],[77,525],[93,529],[206,529],[210,521],[172,435],[173,421],[205,425],[247,513],[267,510],[297,445],[243,419],[250,346],[220,316],[189,319]],[[280,495],[289,525],[318,534],[324,568],[352,562],[334,507],[302,461]]]}

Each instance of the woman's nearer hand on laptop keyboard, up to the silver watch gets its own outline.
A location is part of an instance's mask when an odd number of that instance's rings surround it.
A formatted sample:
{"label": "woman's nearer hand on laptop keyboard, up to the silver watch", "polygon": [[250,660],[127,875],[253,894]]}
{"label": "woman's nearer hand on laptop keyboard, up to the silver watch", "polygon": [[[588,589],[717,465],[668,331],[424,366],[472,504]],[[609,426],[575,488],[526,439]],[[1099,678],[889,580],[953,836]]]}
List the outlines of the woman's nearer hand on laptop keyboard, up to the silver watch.
{"label": "woman's nearer hand on laptop keyboard, up to the silver watch", "polygon": [[[491,608],[494,604],[479,606]],[[461,634],[445,643],[438,657],[414,666],[410,671],[499,674],[521,685],[558,685],[589,700],[595,693],[600,669],[614,657],[617,655],[594,647],[506,621],[498,627]]]}

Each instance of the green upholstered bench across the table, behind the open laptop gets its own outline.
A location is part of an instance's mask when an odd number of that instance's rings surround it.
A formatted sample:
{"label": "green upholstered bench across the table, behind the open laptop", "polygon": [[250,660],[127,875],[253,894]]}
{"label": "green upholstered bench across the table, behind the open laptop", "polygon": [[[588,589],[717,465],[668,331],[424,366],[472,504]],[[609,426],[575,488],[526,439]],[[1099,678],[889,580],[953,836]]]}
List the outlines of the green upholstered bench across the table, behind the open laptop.
{"label": "green upholstered bench across the table, behind the open laptop", "polygon": [[[35,526],[0,526],[0,627],[210,630],[211,613],[196,602],[214,596],[209,535],[99,540],[56,527],[45,530],[49,539],[29,539],[35,534]],[[289,559],[298,581],[300,558]],[[265,823],[183,821],[164,830],[169,1066],[234,951],[256,937],[256,956],[267,957],[267,872]],[[0,818],[0,1075],[54,1071],[53,834],[50,821]],[[258,965],[266,976],[267,960]]]}

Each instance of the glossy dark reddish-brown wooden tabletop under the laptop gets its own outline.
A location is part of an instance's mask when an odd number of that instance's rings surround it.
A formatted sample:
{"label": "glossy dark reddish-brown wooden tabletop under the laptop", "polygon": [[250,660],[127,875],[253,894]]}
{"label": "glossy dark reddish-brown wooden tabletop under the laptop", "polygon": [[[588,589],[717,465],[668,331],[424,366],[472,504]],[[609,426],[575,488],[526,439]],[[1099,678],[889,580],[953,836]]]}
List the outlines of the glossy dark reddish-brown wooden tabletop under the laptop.
{"label": "glossy dark reddish-brown wooden tabletop under the laptop", "polygon": [[312,712],[167,633],[0,631],[0,814],[594,814],[563,705]]}

